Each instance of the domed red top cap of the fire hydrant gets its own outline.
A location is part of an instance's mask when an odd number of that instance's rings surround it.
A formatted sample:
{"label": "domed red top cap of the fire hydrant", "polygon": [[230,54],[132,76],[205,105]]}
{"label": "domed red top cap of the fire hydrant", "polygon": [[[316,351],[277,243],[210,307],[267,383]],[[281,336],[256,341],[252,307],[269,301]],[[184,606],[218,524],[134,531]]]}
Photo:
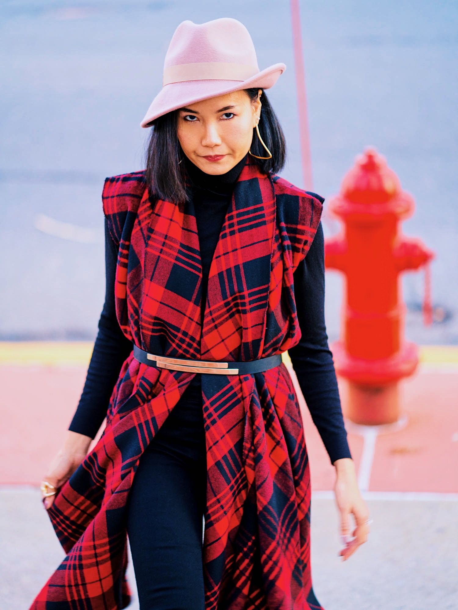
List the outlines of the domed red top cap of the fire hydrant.
{"label": "domed red top cap of the fire hydrant", "polygon": [[375,148],[368,147],[355,159],[355,166],[346,174],[341,196],[354,203],[388,203],[402,193],[398,176]]}

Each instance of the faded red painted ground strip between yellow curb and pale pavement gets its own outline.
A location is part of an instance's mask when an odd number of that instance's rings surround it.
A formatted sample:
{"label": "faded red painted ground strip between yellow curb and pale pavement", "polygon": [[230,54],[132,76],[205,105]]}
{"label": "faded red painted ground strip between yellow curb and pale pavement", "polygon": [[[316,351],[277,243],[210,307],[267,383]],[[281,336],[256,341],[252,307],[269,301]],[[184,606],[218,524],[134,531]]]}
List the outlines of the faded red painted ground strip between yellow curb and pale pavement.
{"label": "faded red painted ground strip between yellow curb and pale pavement", "polygon": [[[40,482],[64,440],[86,372],[87,365],[0,367],[0,483]],[[312,490],[332,490],[335,468],[298,395]],[[458,440],[453,440],[458,432],[456,371],[422,371],[404,382],[404,395],[409,423],[377,437],[369,489],[458,492]],[[348,437],[358,469],[363,438]]]}

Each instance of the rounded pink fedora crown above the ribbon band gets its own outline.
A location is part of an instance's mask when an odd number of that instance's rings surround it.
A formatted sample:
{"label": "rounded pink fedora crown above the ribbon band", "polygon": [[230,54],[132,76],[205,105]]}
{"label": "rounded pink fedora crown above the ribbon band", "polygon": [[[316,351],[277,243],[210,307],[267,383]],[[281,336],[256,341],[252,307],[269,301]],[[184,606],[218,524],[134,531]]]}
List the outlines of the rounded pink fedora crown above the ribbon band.
{"label": "rounded pink fedora crown above the ribbon band", "polygon": [[258,67],[247,28],[230,17],[196,24],[182,21],[170,40],[164,70],[186,63],[234,63]]}

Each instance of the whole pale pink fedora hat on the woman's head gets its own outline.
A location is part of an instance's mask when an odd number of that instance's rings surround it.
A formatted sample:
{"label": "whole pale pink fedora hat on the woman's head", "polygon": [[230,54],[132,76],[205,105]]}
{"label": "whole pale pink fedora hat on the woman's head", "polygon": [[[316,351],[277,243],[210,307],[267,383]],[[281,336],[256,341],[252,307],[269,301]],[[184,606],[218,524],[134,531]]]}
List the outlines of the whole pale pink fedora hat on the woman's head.
{"label": "whole pale pink fedora hat on the woman's head", "polygon": [[284,63],[275,63],[260,71],[249,31],[236,19],[183,21],[165,55],[162,89],[140,126],[150,127],[154,119],[202,99],[250,87],[268,89],[285,70]]}

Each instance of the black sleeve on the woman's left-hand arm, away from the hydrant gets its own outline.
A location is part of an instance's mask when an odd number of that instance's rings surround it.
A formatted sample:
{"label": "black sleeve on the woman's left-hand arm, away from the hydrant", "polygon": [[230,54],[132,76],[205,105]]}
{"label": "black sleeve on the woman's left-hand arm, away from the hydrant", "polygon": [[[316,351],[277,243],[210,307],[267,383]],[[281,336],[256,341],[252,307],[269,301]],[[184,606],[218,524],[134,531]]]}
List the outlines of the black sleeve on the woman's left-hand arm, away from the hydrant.
{"label": "black sleeve on the woman's left-hand arm, away from the hydrant", "polygon": [[75,415],[69,430],[94,438],[106,417],[111,393],[133,343],[123,334],[116,317],[114,282],[117,264],[117,247],[113,242],[105,219],[105,302],[98,321],[87,376]]}

